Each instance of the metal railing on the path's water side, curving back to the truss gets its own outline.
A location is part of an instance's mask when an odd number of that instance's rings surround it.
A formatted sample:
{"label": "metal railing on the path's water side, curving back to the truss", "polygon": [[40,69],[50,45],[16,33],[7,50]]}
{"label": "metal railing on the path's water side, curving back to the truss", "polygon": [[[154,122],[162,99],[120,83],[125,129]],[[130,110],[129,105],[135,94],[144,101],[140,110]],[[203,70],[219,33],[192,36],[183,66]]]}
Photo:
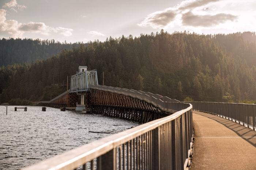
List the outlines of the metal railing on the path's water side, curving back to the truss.
{"label": "metal railing on the path's water side, curving back to the truss", "polygon": [[[80,146],[25,170],[185,169],[193,151],[192,105],[125,88],[90,86],[146,100],[171,115]],[[173,113],[173,111],[177,111]],[[172,114],[173,113],[173,114]]]}

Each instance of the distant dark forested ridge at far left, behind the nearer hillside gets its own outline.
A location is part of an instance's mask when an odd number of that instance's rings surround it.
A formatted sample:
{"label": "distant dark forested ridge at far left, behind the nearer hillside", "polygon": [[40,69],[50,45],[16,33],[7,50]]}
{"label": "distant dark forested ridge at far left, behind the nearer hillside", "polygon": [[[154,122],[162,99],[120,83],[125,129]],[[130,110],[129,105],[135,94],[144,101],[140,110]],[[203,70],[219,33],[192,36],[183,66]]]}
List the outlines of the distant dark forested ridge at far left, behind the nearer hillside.
{"label": "distant dark forested ridge at far left, behind the nearer hillside", "polygon": [[14,63],[31,63],[71,50],[80,43],[60,43],[54,40],[0,39],[0,66]]}

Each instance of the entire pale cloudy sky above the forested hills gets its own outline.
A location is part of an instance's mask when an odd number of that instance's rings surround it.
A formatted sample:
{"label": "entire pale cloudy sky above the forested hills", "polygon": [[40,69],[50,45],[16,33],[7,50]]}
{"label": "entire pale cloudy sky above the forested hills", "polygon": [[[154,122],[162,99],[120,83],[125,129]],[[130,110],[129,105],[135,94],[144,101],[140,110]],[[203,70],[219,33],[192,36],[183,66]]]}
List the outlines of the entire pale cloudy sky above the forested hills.
{"label": "entire pale cloudy sky above the forested hills", "polygon": [[256,0],[0,0],[0,38],[104,41],[161,29],[256,31]]}

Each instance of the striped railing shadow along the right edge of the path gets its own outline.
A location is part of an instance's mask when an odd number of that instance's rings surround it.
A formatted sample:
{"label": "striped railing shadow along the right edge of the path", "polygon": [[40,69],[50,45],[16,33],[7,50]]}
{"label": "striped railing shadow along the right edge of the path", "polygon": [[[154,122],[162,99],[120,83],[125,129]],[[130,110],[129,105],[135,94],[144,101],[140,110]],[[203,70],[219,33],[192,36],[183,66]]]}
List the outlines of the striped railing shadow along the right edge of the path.
{"label": "striped railing shadow along the right edge of the path", "polygon": [[221,118],[219,116],[198,111],[193,111],[193,113],[205,116],[223,124],[228,129],[234,131],[239,137],[242,137],[242,139],[249,142],[252,146],[256,147],[256,131],[253,131],[245,126],[242,126],[241,124],[233,122],[229,119]]}

